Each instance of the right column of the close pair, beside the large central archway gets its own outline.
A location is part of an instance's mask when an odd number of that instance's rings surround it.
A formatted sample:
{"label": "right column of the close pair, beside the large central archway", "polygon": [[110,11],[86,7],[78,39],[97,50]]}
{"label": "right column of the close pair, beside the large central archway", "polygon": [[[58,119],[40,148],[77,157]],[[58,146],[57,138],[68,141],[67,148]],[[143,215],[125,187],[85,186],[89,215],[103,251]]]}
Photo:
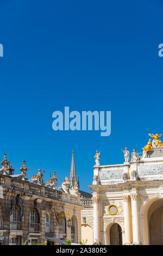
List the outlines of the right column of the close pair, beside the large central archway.
{"label": "right column of the close pair, beside the large central archway", "polygon": [[134,245],[140,245],[138,200],[139,200],[138,194],[131,194],[131,211],[132,211],[133,244]]}

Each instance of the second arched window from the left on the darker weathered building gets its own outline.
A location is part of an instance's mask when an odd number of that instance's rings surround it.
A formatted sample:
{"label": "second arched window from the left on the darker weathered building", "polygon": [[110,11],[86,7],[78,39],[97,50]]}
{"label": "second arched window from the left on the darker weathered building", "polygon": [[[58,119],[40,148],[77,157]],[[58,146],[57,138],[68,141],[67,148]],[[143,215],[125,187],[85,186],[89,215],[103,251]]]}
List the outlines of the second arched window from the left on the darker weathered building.
{"label": "second arched window from the left on the darker weathered building", "polygon": [[36,209],[30,210],[29,221],[30,221],[29,231],[33,232],[33,233],[39,233],[39,231],[40,231],[40,215]]}

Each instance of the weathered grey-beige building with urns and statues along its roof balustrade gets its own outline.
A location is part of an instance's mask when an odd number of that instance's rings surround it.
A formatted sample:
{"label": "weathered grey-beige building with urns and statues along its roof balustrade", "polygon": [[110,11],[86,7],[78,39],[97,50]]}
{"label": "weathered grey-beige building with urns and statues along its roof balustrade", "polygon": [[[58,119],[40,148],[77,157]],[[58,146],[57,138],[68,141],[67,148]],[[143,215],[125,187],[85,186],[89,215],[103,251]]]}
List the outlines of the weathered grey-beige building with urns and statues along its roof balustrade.
{"label": "weathered grey-beige building with urns and statues along its roof balustrade", "polygon": [[[44,184],[43,172],[27,179],[26,162],[21,174],[14,174],[4,154],[0,170],[0,244],[28,245],[42,243],[45,239],[55,245],[72,239],[81,240],[81,216],[79,187],[69,190],[65,180],[58,191],[55,172]],[[71,220],[71,223],[70,223]],[[70,225],[71,224],[71,225]]]}

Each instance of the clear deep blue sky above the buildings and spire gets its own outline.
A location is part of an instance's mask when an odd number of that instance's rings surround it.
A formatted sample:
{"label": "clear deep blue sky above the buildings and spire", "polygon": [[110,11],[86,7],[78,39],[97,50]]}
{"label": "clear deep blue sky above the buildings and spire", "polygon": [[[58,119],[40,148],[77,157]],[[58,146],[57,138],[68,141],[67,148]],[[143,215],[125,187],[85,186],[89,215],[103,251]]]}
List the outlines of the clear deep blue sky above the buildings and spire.
{"label": "clear deep blue sky above the buildings and spire", "polygon": [[[141,152],[163,133],[162,1],[0,1],[0,160],[27,177],[70,174],[90,192],[93,156],[122,163],[121,148]],[[111,135],[54,131],[52,113],[111,111]]]}

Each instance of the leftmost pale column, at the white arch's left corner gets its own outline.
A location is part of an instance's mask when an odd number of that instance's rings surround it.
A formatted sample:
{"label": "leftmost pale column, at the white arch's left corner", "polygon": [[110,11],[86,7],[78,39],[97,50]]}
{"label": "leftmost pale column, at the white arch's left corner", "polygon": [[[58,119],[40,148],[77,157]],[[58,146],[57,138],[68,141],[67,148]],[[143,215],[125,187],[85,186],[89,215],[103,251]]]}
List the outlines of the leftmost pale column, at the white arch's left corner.
{"label": "leftmost pale column, at the white arch's left corner", "polygon": [[99,243],[99,215],[98,215],[99,198],[93,198],[93,235],[94,243]]}

